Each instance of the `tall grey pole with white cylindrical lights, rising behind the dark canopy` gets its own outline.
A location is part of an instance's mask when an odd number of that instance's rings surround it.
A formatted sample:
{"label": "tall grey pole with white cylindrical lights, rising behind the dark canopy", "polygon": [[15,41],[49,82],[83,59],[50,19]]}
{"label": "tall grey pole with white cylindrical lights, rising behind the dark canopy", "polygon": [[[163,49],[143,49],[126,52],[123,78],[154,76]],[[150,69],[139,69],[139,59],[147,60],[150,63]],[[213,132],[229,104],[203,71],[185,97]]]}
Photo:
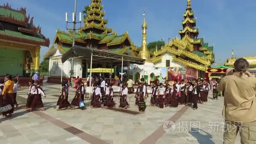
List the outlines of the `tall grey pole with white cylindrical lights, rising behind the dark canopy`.
{"label": "tall grey pole with white cylindrical lights, rising behind the dark canopy", "polygon": [[[73,30],[72,46],[75,45],[75,30],[77,30],[76,29],[76,24],[80,23],[80,28],[81,28],[81,21],[82,21],[82,13],[81,12],[79,13],[79,22],[76,21],[76,14],[77,14],[77,0],[75,0],[75,10],[74,10],[74,13],[72,13],[72,21],[68,21],[68,13],[66,13],[66,29],[67,30]],[[73,28],[72,29],[68,28],[69,23],[73,23]],[[72,74],[72,76],[73,76],[74,75],[74,61],[73,61],[73,64],[72,64],[72,59],[70,59],[70,65],[71,65],[71,70],[70,70],[71,72],[69,72],[69,73]]]}

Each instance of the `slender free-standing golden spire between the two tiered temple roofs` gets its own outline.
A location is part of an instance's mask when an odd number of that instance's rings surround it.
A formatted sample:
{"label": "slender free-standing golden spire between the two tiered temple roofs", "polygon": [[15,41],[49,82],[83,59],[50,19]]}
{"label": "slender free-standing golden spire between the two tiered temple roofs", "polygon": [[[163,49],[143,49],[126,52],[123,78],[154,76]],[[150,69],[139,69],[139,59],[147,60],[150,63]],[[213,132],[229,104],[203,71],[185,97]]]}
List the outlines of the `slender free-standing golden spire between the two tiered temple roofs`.
{"label": "slender free-standing golden spire between the two tiered temple roofs", "polygon": [[145,18],[145,10],[143,13],[144,21],[142,24],[142,44],[141,44],[141,50],[139,51],[138,57],[141,59],[145,59],[146,61],[150,61],[150,54],[149,49],[147,48],[147,22]]}

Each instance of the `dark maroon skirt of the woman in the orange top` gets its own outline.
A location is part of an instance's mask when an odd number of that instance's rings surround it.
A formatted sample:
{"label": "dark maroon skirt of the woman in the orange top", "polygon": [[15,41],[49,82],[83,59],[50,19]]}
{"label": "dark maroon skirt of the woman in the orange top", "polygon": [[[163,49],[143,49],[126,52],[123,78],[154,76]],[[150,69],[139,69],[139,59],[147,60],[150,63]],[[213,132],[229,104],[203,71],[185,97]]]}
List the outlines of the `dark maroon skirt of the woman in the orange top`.
{"label": "dark maroon skirt of the woman in the orange top", "polygon": [[3,112],[3,115],[12,114],[14,111],[14,104],[13,104],[13,93],[6,93],[5,99],[3,99],[3,95],[1,96],[1,107],[5,107],[7,105],[11,105],[13,108],[6,112]]}

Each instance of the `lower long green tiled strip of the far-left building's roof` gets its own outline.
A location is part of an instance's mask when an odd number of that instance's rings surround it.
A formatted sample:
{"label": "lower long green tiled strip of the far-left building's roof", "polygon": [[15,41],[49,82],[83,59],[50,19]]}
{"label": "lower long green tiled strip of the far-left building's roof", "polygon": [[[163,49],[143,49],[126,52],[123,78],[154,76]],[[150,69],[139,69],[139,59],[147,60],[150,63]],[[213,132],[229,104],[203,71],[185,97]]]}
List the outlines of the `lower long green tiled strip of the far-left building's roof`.
{"label": "lower long green tiled strip of the far-left building's roof", "polygon": [[0,35],[8,35],[11,37],[18,37],[18,38],[22,38],[22,39],[37,41],[37,42],[45,42],[43,37],[38,34],[35,36],[32,36],[32,35],[24,35],[21,32],[14,32],[11,30],[0,30]]}

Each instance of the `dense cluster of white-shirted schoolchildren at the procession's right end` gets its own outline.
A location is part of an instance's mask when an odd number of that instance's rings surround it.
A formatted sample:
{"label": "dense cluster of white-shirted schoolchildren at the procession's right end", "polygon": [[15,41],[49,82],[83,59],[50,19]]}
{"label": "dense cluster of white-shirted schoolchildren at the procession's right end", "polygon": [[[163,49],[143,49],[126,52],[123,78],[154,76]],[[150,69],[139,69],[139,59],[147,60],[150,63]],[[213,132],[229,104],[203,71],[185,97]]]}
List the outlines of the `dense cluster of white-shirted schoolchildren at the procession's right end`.
{"label": "dense cluster of white-shirted schoolchildren at the procession's right end", "polygon": [[[151,85],[152,96],[151,106],[164,107],[178,107],[179,104],[185,104],[190,106],[193,104],[193,109],[198,109],[197,103],[203,104],[208,100],[208,92],[210,85],[207,80],[189,80],[185,83],[185,80],[174,80],[174,83],[157,83]],[[140,90],[140,85],[139,88]],[[138,91],[138,90],[137,90]]]}

